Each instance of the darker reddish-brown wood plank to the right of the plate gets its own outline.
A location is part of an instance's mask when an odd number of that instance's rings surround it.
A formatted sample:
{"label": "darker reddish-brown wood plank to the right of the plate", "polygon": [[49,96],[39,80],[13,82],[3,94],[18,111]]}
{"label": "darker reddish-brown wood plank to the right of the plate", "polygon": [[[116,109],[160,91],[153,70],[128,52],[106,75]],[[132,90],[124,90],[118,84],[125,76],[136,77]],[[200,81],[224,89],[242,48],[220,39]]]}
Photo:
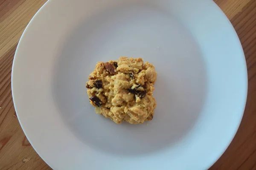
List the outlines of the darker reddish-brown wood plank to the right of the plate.
{"label": "darker reddish-brown wood plank to the right of the plate", "polygon": [[247,62],[247,105],[235,138],[210,170],[256,170],[256,1],[244,3],[230,21],[239,36]]}

